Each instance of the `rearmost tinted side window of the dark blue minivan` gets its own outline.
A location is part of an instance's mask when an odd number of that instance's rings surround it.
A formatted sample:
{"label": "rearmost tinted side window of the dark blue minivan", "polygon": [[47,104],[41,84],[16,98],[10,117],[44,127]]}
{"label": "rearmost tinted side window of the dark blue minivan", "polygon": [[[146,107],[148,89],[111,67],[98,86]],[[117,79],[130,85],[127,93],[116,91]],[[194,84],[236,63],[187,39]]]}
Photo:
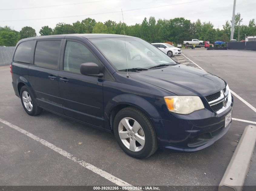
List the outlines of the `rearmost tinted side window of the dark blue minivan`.
{"label": "rearmost tinted side window of the dark blue minivan", "polygon": [[20,43],[15,51],[13,61],[27,64],[33,63],[32,49],[35,48],[35,40]]}

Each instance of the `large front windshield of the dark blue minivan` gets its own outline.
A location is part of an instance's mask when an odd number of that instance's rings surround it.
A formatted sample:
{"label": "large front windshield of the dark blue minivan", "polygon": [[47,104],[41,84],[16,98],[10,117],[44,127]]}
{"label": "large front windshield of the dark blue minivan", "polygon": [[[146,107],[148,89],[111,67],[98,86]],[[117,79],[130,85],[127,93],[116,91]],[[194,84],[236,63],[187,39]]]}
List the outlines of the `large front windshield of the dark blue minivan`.
{"label": "large front windshield of the dark blue minivan", "polygon": [[[127,68],[148,69],[163,64],[166,66],[176,65],[176,62],[161,50],[139,38],[126,37],[124,39],[124,37],[117,37],[90,40],[117,70]],[[128,66],[126,66],[126,56]]]}

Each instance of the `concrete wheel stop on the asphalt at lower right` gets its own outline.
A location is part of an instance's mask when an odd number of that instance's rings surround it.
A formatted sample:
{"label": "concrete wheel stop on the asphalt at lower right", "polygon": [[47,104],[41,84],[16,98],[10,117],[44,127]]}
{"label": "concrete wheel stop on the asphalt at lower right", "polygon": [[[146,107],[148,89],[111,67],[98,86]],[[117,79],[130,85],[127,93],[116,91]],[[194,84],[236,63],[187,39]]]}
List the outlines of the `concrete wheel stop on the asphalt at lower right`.
{"label": "concrete wheel stop on the asphalt at lower right", "polygon": [[221,179],[218,191],[241,191],[256,141],[256,126],[246,126]]}

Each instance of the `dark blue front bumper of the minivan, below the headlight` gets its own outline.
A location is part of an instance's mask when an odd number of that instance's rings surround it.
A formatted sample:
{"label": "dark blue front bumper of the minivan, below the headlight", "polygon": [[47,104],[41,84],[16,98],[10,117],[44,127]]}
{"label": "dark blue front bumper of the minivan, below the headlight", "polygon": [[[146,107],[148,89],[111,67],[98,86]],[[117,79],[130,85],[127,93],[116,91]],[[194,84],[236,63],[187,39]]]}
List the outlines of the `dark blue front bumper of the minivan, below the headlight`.
{"label": "dark blue front bumper of the minivan, below the headlight", "polygon": [[170,113],[171,120],[158,121],[159,147],[198,151],[212,145],[228,132],[231,122],[224,127],[225,116],[232,112],[232,107],[233,97],[231,105],[222,113],[214,113],[208,108],[189,115]]}

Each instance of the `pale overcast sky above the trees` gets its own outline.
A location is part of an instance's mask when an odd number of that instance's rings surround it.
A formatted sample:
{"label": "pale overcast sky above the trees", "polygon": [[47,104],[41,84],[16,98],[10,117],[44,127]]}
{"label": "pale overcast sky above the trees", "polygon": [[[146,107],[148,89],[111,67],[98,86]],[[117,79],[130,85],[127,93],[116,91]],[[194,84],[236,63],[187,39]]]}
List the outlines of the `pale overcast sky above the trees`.
{"label": "pale overcast sky above the trees", "polygon": [[[124,21],[128,25],[141,23],[145,17],[150,16],[154,16],[156,20],[184,17],[192,22],[198,18],[202,22],[211,21],[215,28],[221,29],[225,21],[232,18],[233,2],[234,0],[0,0],[0,26],[7,25],[18,31],[24,26],[30,26],[39,35],[42,26],[54,28],[59,22],[72,24],[88,17],[97,22],[119,22],[122,20],[122,8]],[[236,1],[235,11],[241,13],[242,24],[256,19],[255,8],[256,0]]]}

